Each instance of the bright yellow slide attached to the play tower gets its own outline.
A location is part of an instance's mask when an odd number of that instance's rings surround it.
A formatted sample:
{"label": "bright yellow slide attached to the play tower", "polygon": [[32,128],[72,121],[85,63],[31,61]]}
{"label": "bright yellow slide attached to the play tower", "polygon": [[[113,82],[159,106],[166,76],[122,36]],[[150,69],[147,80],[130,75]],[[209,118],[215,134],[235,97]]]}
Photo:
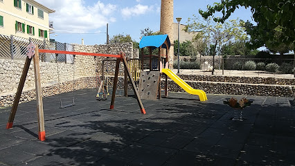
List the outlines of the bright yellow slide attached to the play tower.
{"label": "bright yellow slide attached to the play tower", "polygon": [[199,95],[199,100],[206,101],[207,95],[204,91],[199,89],[193,89],[190,85],[188,85],[184,80],[181,80],[180,77],[178,77],[173,71],[171,71],[169,68],[163,68],[162,72],[168,75],[174,82],[176,82],[184,91],[187,93],[190,93],[192,95]]}

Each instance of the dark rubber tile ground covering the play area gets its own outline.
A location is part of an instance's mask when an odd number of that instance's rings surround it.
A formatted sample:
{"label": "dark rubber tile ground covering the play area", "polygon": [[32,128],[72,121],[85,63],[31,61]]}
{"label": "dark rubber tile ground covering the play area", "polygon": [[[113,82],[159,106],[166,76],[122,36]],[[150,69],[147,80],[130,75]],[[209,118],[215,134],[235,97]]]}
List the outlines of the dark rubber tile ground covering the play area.
{"label": "dark rubber tile ground covering the play area", "polygon": [[[35,101],[19,104],[14,127],[10,108],[0,109],[0,165],[294,165],[295,111],[290,100],[253,99],[243,122],[223,104],[234,95],[187,93],[161,100],[97,101],[94,89],[75,91],[74,107],[59,109],[60,96],[44,98],[46,141],[37,140]],[[62,95],[63,102],[71,93]]]}

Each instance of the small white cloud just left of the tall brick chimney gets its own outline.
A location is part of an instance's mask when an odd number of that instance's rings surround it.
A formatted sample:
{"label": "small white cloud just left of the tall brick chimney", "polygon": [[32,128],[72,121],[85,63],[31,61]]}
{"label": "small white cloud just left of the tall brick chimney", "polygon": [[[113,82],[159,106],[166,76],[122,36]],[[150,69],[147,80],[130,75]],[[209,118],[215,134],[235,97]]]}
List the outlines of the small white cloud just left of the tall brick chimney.
{"label": "small white cloud just left of the tall brick chimney", "polygon": [[141,4],[138,4],[132,8],[128,8],[128,7],[123,8],[121,10],[121,13],[123,17],[126,19],[131,16],[143,15],[146,12],[153,11],[153,10],[154,10],[154,6],[143,6]]}

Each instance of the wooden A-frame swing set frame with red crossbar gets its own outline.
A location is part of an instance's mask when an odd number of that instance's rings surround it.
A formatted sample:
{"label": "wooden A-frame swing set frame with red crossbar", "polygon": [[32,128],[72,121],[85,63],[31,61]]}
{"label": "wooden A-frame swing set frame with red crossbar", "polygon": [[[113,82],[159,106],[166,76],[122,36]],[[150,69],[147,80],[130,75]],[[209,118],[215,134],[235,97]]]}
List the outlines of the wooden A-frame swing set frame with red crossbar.
{"label": "wooden A-frame swing set frame with red crossbar", "polygon": [[81,53],[81,52],[64,51],[64,50],[45,50],[45,49],[39,49],[38,46],[33,44],[32,42],[30,42],[27,49],[28,49],[28,52],[27,52],[26,62],[24,64],[24,68],[21,73],[19,86],[17,88],[15,100],[13,102],[12,109],[10,111],[10,116],[8,119],[8,123],[6,125],[6,129],[10,129],[13,126],[13,121],[15,120],[15,114],[17,112],[17,107],[19,105],[21,93],[24,89],[26,75],[28,74],[30,62],[33,59],[33,66],[34,66],[34,73],[35,73],[35,91],[36,91],[36,100],[37,100],[38,138],[41,141],[45,140],[45,125],[44,125],[44,112],[43,112],[43,101],[42,101],[42,86],[41,86],[40,68],[39,68],[39,53],[55,53],[55,54],[60,53],[60,54],[71,54],[71,55],[88,55],[88,56],[96,56],[96,57],[116,57],[116,69],[115,69],[115,77],[114,77],[114,84],[113,84],[113,92],[111,94],[111,104],[109,109],[114,109],[116,87],[118,83],[119,65],[120,65],[120,62],[123,62],[125,72],[127,73],[127,76],[129,77],[129,80],[132,83],[132,89],[136,96],[138,106],[141,109],[141,113],[145,114],[143,103],[141,102],[141,98],[138,95],[138,91],[136,89],[134,80],[127,66],[125,53],[120,53],[119,55],[110,55],[110,54],[100,54],[100,53]]}

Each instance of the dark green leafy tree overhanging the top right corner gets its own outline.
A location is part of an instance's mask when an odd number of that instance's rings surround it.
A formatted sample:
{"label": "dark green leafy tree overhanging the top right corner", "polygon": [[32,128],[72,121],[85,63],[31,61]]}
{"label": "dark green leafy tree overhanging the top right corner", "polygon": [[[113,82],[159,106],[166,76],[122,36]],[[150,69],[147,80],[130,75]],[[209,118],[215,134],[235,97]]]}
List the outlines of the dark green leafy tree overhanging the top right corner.
{"label": "dark green leafy tree overhanging the top right corner", "polygon": [[[247,33],[251,35],[250,44],[253,46],[275,46],[284,43],[292,44],[294,50],[295,41],[295,2],[290,0],[221,0],[208,6],[206,11],[199,10],[199,14],[205,19],[213,16],[215,12],[222,12],[222,17],[215,17],[214,21],[224,23],[237,8],[244,6],[251,8],[254,21],[257,25],[249,26]],[[276,28],[280,28],[280,36],[276,36]],[[256,34],[256,35],[254,35]],[[257,40],[257,36],[259,39]]]}

